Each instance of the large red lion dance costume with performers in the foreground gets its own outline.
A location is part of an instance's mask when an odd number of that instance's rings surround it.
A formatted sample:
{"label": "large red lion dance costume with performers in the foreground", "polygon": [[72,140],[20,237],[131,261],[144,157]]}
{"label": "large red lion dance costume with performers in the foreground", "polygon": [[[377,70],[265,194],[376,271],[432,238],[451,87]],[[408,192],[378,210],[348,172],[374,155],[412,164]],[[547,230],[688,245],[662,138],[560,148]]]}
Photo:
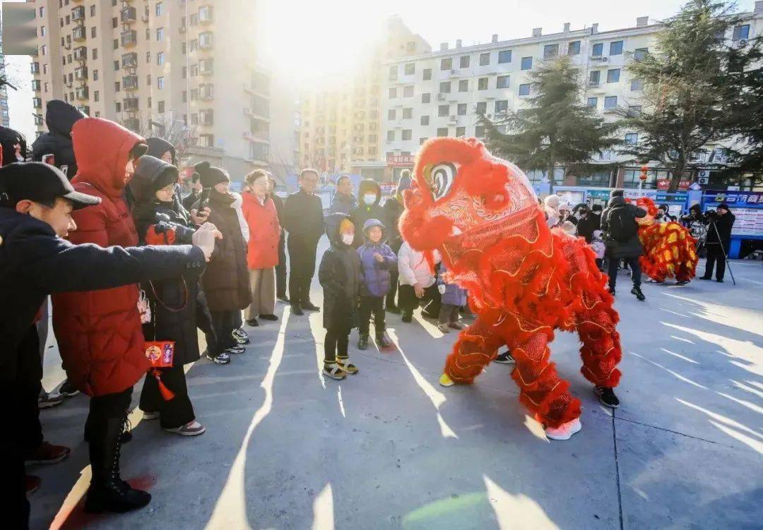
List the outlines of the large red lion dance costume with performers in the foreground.
{"label": "large red lion dance costume with performers in the foreground", "polygon": [[577,330],[588,381],[610,388],[620,381],[618,316],[593,251],[550,230],[523,172],[473,138],[425,143],[404,202],[405,240],[428,255],[442,253],[447,281],[468,290],[478,315],[453,346],[440,384],[472,383],[508,345],[520,401],[546,435],[578,432],[580,400],[549,362],[554,330]]}

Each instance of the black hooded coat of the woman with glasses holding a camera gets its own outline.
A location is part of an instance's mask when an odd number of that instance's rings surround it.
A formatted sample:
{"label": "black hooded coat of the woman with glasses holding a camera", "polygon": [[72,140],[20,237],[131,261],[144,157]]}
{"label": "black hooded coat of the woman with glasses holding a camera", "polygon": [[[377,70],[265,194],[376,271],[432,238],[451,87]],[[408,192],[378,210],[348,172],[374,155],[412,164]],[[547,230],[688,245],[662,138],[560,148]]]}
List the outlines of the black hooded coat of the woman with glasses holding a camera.
{"label": "black hooded coat of the woman with glasses holding a camera", "polygon": [[[161,202],[155,192],[169,181],[177,181],[178,170],[163,160],[153,156],[141,156],[130,180],[135,204],[133,219],[141,245],[146,245],[146,233],[156,223],[156,214],[166,217],[166,221],[175,225],[174,245],[192,243],[194,233],[188,212],[182,207],[175,194],[171,202]],[[184,230],[185,229],[185,230]],[[142,284],[143,291],[151,301],[151,322],[143,326],[146,340],[175,341],[176,367],[197,361],[199,358],[198,336],[196,334],[196,298],[197,282],[185,280],[182,276],[162,281]]]}

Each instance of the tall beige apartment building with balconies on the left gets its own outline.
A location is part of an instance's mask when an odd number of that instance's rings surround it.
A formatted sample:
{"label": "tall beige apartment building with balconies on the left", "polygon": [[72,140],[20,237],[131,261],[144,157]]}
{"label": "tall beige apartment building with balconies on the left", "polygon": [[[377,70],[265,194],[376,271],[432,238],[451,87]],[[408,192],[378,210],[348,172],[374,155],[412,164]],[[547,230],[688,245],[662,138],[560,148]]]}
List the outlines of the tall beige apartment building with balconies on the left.
{"label": "tall beige apartment building with balconies on the left", "polygon": [[234,179],[269,163],[270,75],[256,62],[248,0],[35,0],[34,108],[63,99],[144,136],[182,165]]}

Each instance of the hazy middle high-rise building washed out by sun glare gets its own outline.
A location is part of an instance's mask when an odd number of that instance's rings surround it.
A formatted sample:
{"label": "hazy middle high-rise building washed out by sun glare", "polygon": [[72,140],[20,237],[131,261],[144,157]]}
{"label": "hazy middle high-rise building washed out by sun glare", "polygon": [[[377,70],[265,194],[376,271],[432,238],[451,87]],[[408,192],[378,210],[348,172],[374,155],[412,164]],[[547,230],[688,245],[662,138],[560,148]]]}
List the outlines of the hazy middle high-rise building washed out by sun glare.
{"label": "hazy middle high-rise building washed out by sun glare", "polygon": [[333,174],[368,162],[376,165],[381,149],[381,65],[395,57],[428,53],[431,48],[396,16],[368,50],[362,69],[347,72],[338,88],[308,89],[301,94],[299,151],[304,167]]}

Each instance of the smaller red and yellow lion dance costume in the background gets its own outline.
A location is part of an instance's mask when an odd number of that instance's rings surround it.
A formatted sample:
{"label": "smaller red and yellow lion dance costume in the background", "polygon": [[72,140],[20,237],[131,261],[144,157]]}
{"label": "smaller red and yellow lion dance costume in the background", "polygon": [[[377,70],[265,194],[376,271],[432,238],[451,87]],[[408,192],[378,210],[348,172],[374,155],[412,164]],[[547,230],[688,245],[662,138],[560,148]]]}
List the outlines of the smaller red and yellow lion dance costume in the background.
{"label": "smaller red and yellow lion dance costume in the background", "polygon": [[639,239],[644,253],[639,258],[641,270],[654,281],[675,277],[679,284],[688,283],[697,273],[697,239],[678,223],[655,223],[657,207],[650,198],[636,200],[646,210],[646,217],[637,219]]}

